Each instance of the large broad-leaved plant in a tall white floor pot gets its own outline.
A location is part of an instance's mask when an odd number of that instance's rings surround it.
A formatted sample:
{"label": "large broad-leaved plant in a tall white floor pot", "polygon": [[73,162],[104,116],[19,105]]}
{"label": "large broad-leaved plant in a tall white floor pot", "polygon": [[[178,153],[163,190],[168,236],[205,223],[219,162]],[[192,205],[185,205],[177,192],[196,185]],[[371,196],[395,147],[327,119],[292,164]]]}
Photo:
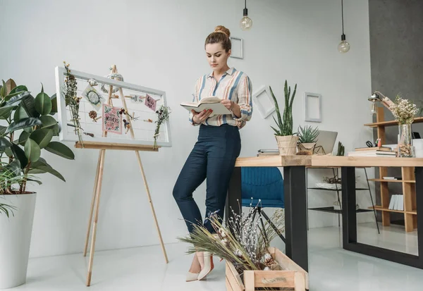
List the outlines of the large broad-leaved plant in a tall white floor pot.
{"label": "large broad-leaved plant in a tall white floor pot", "polygon": [[0,86],[0,289],[22,285],[26,280],[36,193],[28,182],[34,175],[63,176],[41,157],[42,149],[65,159],[75,159],[61,142],[59,125],[52,116],[57,111],[56,94],[41,92],[32,97],[27,87],[13,80]]}

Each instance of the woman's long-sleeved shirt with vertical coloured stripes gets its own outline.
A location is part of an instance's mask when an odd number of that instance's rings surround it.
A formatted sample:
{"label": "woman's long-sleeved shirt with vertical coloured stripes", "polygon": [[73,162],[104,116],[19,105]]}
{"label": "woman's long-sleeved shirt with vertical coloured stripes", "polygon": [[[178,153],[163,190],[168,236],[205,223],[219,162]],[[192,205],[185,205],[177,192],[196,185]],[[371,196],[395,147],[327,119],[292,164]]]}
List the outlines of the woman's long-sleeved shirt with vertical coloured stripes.
{"label": "woman's long-sleeved shirt with vertical coloured stripes", "polygon": [[[203,97],[215,96],[220,99],[229,99],[240,106],[241,116],[235,114],[216,115],[204,120],[204,125],[220,126],[228,124],[243,128],[252,116],[252,84],[250,78],[240,70],[230,68],[221,76],[219,82],[216,82],[213,73],[198,78],[195,83],[192,102],[198,102]],[[190,113],[190,123],[192,122],[192,113]]]}

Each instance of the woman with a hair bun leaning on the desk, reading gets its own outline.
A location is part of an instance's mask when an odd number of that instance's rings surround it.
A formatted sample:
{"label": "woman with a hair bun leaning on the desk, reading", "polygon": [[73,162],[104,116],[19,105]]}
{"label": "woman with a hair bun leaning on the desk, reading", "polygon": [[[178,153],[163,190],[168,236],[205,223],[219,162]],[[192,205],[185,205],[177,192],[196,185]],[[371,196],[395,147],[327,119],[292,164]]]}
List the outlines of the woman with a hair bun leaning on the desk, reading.
{"label": "woman with a hair bun leaning on the desk, reading", "polygon": [[[200,125],[198,140],[173,188],[173,197],[190,233],[194,229],[193,223],[202,225],[202,216],[192,198],[192,192],[206,178],[206,217],[210,213],[217,213],[220,219],[223,216],[229,180],[241,150],[239,129],[252,115],[250,78],[228,66],[231,55],[230,35],[226,27],[219,25],[207,37],[204,48],[212,73],[197,80],[193,101],[198,102],[209,96],[219,97],[222,99],[221,104],[231,114],[210,116],[211,110],[190,113],[190,123]],[[204,220],[204,227],[214,233],[207,219]],[[195,253],[187,281],[201,280],[213,267],[211,254]]]}

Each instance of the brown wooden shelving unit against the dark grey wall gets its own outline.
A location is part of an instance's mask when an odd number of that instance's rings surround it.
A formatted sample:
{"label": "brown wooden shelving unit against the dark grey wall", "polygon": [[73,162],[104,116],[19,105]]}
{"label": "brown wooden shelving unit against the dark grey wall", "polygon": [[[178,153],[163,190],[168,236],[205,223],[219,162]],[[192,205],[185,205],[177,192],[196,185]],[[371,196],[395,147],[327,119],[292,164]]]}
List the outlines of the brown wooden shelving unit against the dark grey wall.
{"label": "brown wooden shelving unit against the dark grey wall", "polygon": [[[377,129],[377,138],[381,139],[381,144],[386,144],[385,127],[396,126],[398,122],[396,120],[386,121],[384,120],[385,113],[383,107],[377,107],[376,109],[376,123],[367,123],[364,126]],[[423,123],[423,118],[415,118],[414,123]],[[397,158],[399,159],[399,158]],[[403,158],[406,159],[406,158]],[[382,177],[388,173],[387,167],[379,168],[379,179],[369,179],[369,181],[379,182],[381,191],[381,205],[369,207],[376,211],[381,211],[382,225],[391,225],[390,213],[403,213],[405,221],[405,231],[410,232],[417,228],[417,206],[416,206],[416,190],[415,190],[415,174],[414,167],[401,167],[401,174],[403,180],[385,180]],[[388,183],[400,182],[403,184],[403,197],[404,197],[404,211],[398,211],[389,209],[390,194]]]}

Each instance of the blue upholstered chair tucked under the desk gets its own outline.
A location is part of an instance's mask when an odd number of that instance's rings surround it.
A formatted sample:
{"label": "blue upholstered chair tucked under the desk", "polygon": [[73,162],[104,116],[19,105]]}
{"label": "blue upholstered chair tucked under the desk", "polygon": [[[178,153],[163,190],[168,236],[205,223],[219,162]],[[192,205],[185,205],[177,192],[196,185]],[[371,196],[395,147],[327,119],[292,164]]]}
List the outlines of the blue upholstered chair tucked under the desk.
{"label": "blue upholstered chair tucked under the desk", "polygon": [[259,199],[261,200],[259,207],[257,207],[258,212],[285,242],[285,237],[276,229],[269,216],[262,210],[265,207],[285,208],[281,171],[276,167],[242,167],[241,197],[242,205],[247,207],[250,205],[254,207],[259,203]]}

